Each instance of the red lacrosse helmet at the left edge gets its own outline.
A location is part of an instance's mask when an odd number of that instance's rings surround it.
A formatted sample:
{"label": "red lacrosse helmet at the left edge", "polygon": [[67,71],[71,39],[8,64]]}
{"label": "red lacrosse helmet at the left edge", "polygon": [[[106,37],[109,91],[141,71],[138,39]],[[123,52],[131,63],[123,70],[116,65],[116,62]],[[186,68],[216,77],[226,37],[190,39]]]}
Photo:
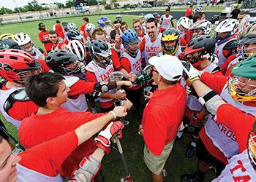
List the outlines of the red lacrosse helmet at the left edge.
{"label": "red lacrosse helmet at the left edge", "polygon": [[7,81],[23,84],[27,76],[41,71],[41,65],[23,50],[0,51],[0,75]]}

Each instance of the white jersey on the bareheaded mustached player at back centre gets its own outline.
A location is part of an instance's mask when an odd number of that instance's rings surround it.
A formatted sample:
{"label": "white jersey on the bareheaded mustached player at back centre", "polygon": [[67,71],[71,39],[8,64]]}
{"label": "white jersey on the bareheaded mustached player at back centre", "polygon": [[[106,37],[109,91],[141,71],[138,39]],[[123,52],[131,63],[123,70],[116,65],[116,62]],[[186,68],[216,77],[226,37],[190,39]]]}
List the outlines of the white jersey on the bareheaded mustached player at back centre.
{"label": "white jersey on the bareheaded mustached player at back centre", "polygon": [[146,66],[149,65],[148,60],[149,58],[158,55],[159,52],[162,52],[162,45],[161,45],[161,37],[162,33],[159,33],[157,39],[155,41],[151,41],[151,38],[146,34],[145,36],[145,47],[144,47],[144,56],[146,61]]}

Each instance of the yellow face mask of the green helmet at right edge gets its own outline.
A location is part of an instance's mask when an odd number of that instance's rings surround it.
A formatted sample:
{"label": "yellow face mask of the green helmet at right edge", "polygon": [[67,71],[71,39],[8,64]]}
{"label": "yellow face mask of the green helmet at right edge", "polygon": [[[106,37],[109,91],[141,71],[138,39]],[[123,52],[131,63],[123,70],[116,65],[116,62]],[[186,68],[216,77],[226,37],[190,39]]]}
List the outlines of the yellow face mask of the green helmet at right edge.
{"label": "yellow face mask of the green helmet at right edge", "polygon": [[256,80],[230,74],[227,86],[234,100],[256,101]]}

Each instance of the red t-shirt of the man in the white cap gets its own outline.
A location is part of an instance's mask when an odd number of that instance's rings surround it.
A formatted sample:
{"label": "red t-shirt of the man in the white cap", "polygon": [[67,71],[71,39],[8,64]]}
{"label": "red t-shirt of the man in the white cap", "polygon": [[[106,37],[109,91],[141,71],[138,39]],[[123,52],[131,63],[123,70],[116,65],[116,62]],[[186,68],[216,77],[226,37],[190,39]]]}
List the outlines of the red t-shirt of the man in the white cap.
{"label": "red t-shirt of the man in the white cap", "polygon": [[154,155],[161,155],[165,145],[175,138],[184,116],[187,93],[181,84],[157,90],[143,112],[144,141]]}

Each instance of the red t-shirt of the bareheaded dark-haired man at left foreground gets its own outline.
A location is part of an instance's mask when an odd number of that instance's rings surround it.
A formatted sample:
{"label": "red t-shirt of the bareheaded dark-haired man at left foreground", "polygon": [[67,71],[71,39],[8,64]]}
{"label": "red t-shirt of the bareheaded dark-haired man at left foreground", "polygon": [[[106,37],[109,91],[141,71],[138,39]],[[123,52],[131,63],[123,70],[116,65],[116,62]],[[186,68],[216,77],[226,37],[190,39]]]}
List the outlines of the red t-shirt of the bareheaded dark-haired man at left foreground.
{"label": "red t-shirt of the bareheaded dark-haired man at left foreground", "polygon": [[[28,118],[23,119],[20,125],[18,133],[20,143],[26,149],[37,146],[39,143],[75,130],[80,125],[103,115],[102,113],[70,112],[64,108],[56,109],[44,115],[31,114]],[[96,148],[93,138],[78,146],[61,165],[59,173],[64,176],[71,176],[73,170],[78,167],[80,160],[89,156]]]}

